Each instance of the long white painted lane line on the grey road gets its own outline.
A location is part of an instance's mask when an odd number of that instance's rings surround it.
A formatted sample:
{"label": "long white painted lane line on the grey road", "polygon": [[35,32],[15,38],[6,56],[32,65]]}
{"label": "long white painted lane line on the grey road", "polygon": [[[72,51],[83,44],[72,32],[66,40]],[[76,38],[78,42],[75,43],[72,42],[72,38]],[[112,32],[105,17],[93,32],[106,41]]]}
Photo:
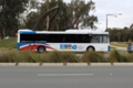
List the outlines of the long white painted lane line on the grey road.
{"label": "long white painted lane line on the grey road", "polygon": [[38,74],[38,76],[93,76],[93,74]]}

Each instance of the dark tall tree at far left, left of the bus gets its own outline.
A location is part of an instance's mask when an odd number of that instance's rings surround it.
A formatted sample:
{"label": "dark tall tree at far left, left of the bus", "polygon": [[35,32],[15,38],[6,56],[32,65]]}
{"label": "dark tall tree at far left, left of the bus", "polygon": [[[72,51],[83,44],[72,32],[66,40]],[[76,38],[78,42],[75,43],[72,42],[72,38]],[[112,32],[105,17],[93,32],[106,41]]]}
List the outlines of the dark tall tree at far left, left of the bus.
{"label": "dark tall tree at far left, left of the bus", "polygon": [[[17,31],[20,25],[20,14],[25,10],[29,0],[1,0],[2,12],[0,13],[0,34]],[[14,33],[12,33],[14,34]]]}

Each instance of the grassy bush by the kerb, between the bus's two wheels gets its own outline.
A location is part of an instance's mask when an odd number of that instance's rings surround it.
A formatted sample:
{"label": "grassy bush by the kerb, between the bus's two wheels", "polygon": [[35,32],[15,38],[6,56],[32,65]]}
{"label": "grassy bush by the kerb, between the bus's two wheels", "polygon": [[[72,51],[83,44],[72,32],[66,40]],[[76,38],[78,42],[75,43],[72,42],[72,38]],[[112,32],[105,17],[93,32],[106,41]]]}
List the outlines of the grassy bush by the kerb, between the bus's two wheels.
{"label": "grassy bush by the kerb, between the bus's two wheels", "polygon": [[[66,53],[66,52],[51,52],[47,53],[48,55],[41,55],[41,59],[43,63],[79,63],[79,57],[73,53]],[[43,57],[47,56],[47,57]],[[43,58],[42,58],[43,57]]]}

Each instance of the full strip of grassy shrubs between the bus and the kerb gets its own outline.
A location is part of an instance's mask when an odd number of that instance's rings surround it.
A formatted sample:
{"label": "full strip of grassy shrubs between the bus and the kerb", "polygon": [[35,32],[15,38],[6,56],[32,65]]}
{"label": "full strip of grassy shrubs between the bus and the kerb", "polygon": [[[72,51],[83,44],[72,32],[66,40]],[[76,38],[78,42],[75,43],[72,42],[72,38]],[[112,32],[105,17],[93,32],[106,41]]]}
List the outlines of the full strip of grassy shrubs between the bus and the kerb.
{"label": "full strip of grassy shrubs between the bus and the kerb", "polygon": [[105,58],[103,53],[86,52],[80,58],[69,52],[38,54],[29,51],[9,51],[0,54],[0,63],[133,63],[133,54],[121,55],[114,50]]}

